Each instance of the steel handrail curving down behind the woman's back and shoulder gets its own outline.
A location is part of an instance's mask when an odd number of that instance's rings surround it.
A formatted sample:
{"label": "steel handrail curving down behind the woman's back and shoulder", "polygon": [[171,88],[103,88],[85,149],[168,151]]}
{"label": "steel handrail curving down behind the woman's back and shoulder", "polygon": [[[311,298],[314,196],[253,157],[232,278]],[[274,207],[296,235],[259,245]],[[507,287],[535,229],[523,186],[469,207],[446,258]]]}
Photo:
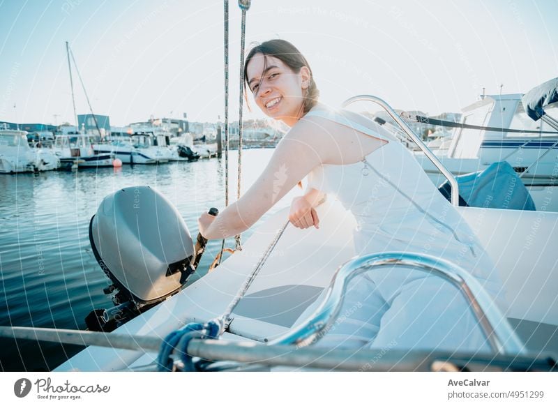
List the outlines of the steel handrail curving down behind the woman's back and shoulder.
{"label": "steel handrail curving down behind the woman's back and shoulder", "polygon": [[372,103],[376,103],[377,105],[383,107],[384,110],[386,110],[389,116],[391,116],[391,118],[396,123],[399,124],[401,129],[405,131],[405,134],[407,134],[407,136],[409,136],[411,140],[414,141],[414,143],[418,146],[418,148],[420,148],[421,151],[423,151],[425,156],[428,159],[430,159],[430,161],[435,165],[435,167],[437,167],[438,170],[442,172],[444,176],[446,176],[446,179],[448,179],[451,185],[451,204],[453,204],[453,206],[459,206],[459,186],[458,186],[458,182],[455,180],[455,176],[453,176],[453,174],[447,170],[444,164],[442,164],[442,162],[440,162],[437,156],[435,156],[434,153],[430,151],[428,146],[426,146],[424,142],[421,140],[421,138],[418,137],[414,133],[414,131],[409,127],[409,125],[405,123],[404,120],[401,119],[401,117],[395,112],[395,110],[393,110],[391,106],[381,98],[378,98],[376,96],[370,96],[368,94],[361,94],[359,96],[354,96],[352,98],[349,98],[342,103],[342,107],[347,107],[351,103],[355,103],[358,101],[371,101]]}

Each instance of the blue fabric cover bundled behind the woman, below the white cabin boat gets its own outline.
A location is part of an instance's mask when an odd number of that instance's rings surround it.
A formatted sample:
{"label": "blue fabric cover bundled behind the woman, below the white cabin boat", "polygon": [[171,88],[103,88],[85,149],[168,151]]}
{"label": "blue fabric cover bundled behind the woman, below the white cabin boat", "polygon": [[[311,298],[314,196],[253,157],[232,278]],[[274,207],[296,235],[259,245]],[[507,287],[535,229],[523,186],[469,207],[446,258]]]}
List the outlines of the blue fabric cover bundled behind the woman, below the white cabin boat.
{"label": "blue fabric cover bundled behind the woman, below the white cabin boat", "polygon": [[[496,162],[481,172],[455,176],[459,186],[459,205],[491,209],[535,210],[529,190],[506,161]],[[448,181],[439,187],[451,200]]]}

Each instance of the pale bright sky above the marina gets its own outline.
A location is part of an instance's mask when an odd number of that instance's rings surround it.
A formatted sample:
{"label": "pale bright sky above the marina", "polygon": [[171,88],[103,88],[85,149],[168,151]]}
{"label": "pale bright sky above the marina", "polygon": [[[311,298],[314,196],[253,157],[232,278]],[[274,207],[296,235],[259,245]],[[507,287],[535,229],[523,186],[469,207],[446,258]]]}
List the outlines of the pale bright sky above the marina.
{"label": "pale bright sky above the marina", "polygon": [[[558,0],[252,0],[246,45],[294,43],[326,104],[372,94],[434,115],[460,112],[483,87],[525,93],[557,77],[557,20]],[[230,1],[230,121],[239,117],[240,27]],[[215,122],[223,38],[223,1],[0,0],[0,121],[74,122],[68,41],[93,112],[112,126],[185,113]],[[77,114],[86,114],[73,75]],[[261,118],[250,104],[244,118]]]}

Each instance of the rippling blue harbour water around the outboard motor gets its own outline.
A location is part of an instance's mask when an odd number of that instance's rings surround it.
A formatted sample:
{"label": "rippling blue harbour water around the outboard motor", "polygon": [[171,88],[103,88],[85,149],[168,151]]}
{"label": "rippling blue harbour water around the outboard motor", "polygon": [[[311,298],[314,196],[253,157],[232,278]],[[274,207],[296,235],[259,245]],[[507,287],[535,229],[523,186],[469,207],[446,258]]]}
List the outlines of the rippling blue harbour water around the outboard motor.
{"label": "rippling blue harbour water around the outboard motor", "polygon": [[[262,173],[273,149],[242,153],[241,190]],[[236,200],[237,151],[229,152],[229,203]],[[124,165],[75,172],[0,175],[0,325],[84,329],[93,309],[113,306],[109,280],[89,244],[88,227],[103,198],[128,186],[149,185],[167,197],[197,235],[197,218],[225,207],[225,156],[197,162]],[[300,195],[294,188],[272,213]],[[243,234],[246,241],[258,224]],[[220,250],[209,241],[197,272],[203,277]],[[234,240],[226,246],[234,248]],[[0,338],[0,370],[52,370],[83,347]]]}

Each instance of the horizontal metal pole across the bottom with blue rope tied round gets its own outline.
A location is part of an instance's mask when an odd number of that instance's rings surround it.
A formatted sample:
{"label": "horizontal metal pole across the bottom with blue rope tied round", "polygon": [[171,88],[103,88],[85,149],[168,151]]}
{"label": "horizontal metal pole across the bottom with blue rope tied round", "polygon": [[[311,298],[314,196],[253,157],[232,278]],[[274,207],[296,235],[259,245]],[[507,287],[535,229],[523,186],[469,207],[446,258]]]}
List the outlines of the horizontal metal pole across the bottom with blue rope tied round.
{"label": "horizontal metal pole across the bottom with blue rope tied round", "polygon": [[[0,336],[27,338],[31,340],[53,341],[77,345],[98,345],[100,347],[143,350],[158,352],[163,343],[161,338],[127,336],[115,333],[93,331],[40,329],[33,327],[0,326]],[[548,357],[536,359],[530,356],[494,355],[476,353],[408,351],[399,349],[334,349],[330,347],[296,347],[294,345],[262,345],[253,342],[193,339],[188,345],[188,354],[203,359],[219,359],[249,363],[252,366],[292,366],[300,368],[321,368],[347,371],[429,371],[442,370],[439,364],[459,370],[471,361],[479,365],[492,363],[499,370],[506,370],[517,364],[516,370],[553,370],[555,364]],[[220,363],[225,364],[225,362]],[[210,370],[220,370],[210,367]],[[230,366],[234,367],[234,364]],[[153,370],[154,364],[131,367],[128,370]],[[238,370],[246,366],[238,365]],[[250,365],[248,366],[250,368]],[[226,370],[227,368],[225,368]],[[229,368],[230,369],[230,368]]]}

